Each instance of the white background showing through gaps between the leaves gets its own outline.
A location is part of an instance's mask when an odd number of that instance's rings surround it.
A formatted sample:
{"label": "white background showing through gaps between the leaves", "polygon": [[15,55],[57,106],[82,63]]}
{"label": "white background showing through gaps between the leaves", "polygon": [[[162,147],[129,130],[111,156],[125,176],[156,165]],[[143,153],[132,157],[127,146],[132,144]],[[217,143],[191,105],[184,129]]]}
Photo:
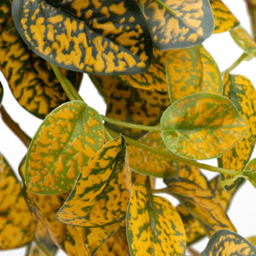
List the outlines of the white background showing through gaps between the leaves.
{"label": "white background showing through gaps between the leaves", "polygon": [[[250,31],[250,23],[247,17],[247,9],[244,0],[224,0],[236,17],[241,21],[241,26],[244,26],[247,31]],[[217,35],[212,35],[204,43],[204,46],[212,54],[215,61],[221,71],[236,61],[241,55],[242,51],[239,49],[233,40],[230,38],[229,32],[224,32]],[[239,67],[237,67],[232,73],[245,75],[248,79],[256,85],[256,60],[244,61]],[[20,105],[15,101],[14,97],[9,92],[9,87],[0,73],[0,80],[4,87],[3,106],[11,114],[12,118],[19,123],[20,127],[26,131],[29,136],[33,136],[37,131],[38,126],[41,124],[40,119],[36,119],[32,114],[26,112]],[[90,80],[84,75],[83,84],[80,95],[84,98],[91,107],[96,108],[99,113],[105,113],[105,105],[102,101],[101,96],[98,96],[95,88],[90,84]],[[10,165],[17,170],[22,157],[26,154],[26,147],[20,143],[20,140],[9,131],[6,125],[3,124],[0,119],[0,152],[9,161]],[[253,153],[253,157],[256,153]],[[216,160],[204,161],[211,165],[216,166]],[[216,174],[205,171],[208,177],[213,177]],[[159,183],[159,187],[163,186]],[[173,204],[176,203],[172,198],[168,197]],[[236,226],[237,232],[241,236],[254,236],[256,235],[256,189],[250,183],[246,183],[242,186],[239,192],[236,194],[230,210],[229,216],[233,224]],[[207,240],[201,241],[195,246],[196,249],[201,251],[206,246]],[[25,250],[23,248],[14,251],[0,252],[2,256],[19,256],[24,255]],[[64,255],[59,253],[58,256]],[[78,255],[79,256],[79,255]]]}

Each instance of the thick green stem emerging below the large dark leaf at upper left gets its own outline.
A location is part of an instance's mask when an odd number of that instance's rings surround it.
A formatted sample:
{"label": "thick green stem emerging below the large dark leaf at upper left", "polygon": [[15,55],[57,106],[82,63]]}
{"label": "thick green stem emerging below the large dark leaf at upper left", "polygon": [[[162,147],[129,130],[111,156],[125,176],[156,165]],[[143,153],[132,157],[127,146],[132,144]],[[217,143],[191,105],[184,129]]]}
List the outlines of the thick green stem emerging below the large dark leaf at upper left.
{"label": "thick green stem emerging below the large dark leaf at upper left", "polygon": [[70,101],[84,101],[81,96],[79,96],[78,91],[73,87],[73,84],[61,73],[59,67],[50,63],[56,78],[59,80],[62,89],[66,92]]}

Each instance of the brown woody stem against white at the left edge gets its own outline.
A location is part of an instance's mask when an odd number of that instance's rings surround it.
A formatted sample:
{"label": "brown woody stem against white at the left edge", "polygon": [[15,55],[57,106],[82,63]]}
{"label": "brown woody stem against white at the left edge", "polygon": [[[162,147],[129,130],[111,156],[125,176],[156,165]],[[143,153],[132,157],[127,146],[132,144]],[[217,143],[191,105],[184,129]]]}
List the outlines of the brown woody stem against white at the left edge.
{"label": "brown woody stem against white at the left edge", "polygon": [[16,137],[18,137],[20,141],[26,146],[26,148],[28,148],[29,144],[31,143],[31,137],[29,137],[25,131],[20,129],[20,125],[15,123],[15,121],[9,116],[9,113],[6,112],[5,108],[3,108],[3,105],[0,108],[0,113],[5,125],[7,125],[9,129],[15,133]]}

